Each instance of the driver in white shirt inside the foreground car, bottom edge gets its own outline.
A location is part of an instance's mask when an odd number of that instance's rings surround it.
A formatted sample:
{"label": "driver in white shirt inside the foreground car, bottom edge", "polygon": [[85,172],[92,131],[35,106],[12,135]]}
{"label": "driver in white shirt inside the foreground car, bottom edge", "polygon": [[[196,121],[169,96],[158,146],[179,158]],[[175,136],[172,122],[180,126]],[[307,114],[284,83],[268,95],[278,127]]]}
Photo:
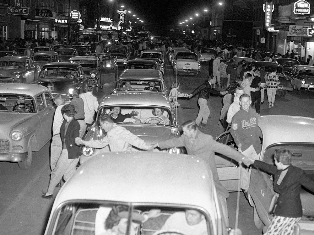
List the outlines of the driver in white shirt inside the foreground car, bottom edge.
{"label": "driver in white shirt inside the foreground car, bottom edge", "polygon": [[160,229],[160,231],[169,230],[178,230],[187,235],[208,234],[204,215],[192,209],[173,213]]}

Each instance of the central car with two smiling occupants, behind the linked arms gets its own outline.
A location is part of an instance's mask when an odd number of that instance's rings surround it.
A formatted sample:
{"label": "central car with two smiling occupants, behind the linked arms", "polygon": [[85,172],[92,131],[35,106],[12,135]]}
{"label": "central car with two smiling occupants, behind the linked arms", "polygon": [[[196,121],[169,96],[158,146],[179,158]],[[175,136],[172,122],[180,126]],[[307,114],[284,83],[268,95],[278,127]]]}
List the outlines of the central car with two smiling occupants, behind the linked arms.
{"label": "central car with two smiling occupants, behind the linked arms", "polygon": [[[147,144],[153,144],[161,140],[179,137],[179,129],[176,123],[175,114],[171,108],[170,101],[167,97],[154,91],[124,91],[117,94],[111,94],[103,98],[100,102],[96,120],[91,128],[88,128],[84,140],[98,140],[106,136],[106,133],[99,126],[99,117],[104,113],[109,113],[112,108],[120,107],[121,114],[135,113],[133,118],[126,118],[122,123],[116,123],[142,138]],[[163,116],[167,117],[169,124],[154,115],[154,108],[163,109]],[[132,147],[132,151],[140,151]],[[155,149],[157,152],[168,152],[179,154],[185,152],[185,148]],[[85,162],[98,153],[109,152],[109,147],[95,149],[82,147],[80,162]]]}

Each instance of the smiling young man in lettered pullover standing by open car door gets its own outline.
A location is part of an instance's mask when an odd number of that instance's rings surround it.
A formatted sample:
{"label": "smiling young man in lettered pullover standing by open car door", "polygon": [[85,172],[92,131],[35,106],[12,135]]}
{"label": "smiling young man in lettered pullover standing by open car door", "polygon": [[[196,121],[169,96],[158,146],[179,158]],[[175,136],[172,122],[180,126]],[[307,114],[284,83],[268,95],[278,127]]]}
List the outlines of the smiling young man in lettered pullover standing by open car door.
{"label": "smiling young man in lettered pullover standing by open car door", "polygon": [[[258,127],[257,113],[251,108],[251,97],[243,94],[240,97],[240,110],[232,117],[231,135],[234,138],[239,152],[246,157],[258,159],[261,152],[262,133]],[[240,187],[247,192],[250,185],[251,169],[240,165]]]}

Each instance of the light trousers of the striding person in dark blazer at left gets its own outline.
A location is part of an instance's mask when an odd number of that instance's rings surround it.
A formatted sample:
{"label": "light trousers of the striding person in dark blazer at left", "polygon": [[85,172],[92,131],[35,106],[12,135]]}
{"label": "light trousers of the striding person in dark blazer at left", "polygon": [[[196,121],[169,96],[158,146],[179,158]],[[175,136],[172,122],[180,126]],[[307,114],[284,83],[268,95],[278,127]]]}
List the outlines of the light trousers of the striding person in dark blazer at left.
{"label": "light trousers of the striding person in dark blazer at left", "polygon": [[53,191],[60,180],[67,181],[75,172],[79,158],[69,159],[68,149],[62,149],[61,155],[57,161],[55,168],[51,171],[50,181],[47,193],[53,194]]}

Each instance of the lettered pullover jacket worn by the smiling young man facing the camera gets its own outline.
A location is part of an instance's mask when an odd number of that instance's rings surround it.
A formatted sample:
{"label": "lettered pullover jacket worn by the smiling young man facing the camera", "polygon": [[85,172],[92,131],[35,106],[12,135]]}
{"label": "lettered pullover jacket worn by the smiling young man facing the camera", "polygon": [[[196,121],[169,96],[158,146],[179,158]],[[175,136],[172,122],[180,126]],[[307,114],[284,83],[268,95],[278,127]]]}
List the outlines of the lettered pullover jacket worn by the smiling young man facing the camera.
{"label": "lettered pullover jacket worn by the smiling young man facing the camera", "polygon": [[236,145],[241,144],[241,151],[245,151],[253,145],[257,154],[261,152],[261,129],[258,127],[257,113],[249,107],[249,111],[240,107],[240,110],[232,117],[230,133]]}

